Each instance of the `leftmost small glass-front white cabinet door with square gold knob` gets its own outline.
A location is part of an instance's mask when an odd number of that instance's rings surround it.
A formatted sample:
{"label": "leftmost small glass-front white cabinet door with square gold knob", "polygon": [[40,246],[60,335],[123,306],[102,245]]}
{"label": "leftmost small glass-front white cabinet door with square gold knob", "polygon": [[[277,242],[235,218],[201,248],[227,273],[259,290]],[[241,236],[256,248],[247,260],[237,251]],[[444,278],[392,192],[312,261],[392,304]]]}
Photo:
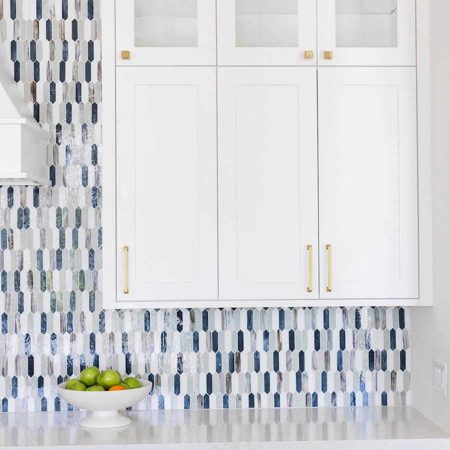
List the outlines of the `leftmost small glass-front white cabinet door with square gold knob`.
{"label": "leftmost small glass-front white cabinet door with square gold knob", "polygon": [[117,65],[216,64],[215,1],[115,0],[115,5]]}

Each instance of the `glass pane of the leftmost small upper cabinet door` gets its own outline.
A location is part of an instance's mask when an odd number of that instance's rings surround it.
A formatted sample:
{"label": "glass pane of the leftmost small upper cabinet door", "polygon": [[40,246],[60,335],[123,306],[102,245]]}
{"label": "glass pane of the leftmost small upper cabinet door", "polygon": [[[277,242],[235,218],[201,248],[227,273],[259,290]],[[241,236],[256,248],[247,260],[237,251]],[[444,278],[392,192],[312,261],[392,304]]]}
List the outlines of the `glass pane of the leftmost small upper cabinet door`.
{"label": "glass pane of the leftmost small upper cabinet door", "polygon": [[197,0],[134,0],[134,46],[196,47]]}

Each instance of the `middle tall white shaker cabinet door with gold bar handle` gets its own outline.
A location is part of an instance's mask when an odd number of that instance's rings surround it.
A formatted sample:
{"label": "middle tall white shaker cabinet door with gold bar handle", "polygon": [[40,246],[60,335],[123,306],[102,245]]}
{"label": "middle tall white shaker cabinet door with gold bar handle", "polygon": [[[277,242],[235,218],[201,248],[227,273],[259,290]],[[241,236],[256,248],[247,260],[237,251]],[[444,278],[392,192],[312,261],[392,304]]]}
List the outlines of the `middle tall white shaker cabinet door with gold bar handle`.
{"label": "middle tall white shaker cabinet door with gold bar handle", "polygon": [[217,69],[220,300],[318,298],[316,102],[315,67]]}

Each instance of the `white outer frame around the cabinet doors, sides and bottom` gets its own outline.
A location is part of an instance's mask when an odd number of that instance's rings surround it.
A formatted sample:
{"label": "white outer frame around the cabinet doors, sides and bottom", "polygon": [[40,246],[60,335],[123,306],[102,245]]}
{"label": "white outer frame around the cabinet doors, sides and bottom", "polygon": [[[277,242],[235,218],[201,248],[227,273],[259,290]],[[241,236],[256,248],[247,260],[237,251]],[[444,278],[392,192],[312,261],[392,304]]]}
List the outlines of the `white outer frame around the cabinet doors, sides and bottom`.
{"label": "white outer frame around the cabinet doors, sides and bottom", "polygon": [[430,104],[430,38],[429,0],[416,4],[416,73],[417,73],[417,162],[419,223],[419,298],[383,300],[204,300],[204,301],[116,301],[116,237],[115,237],[115,6],[112,2],[101,10],[103,41],[111,42],[102,49],[102,305],[105,309],[141,307],[264,307],[264,306],[430,306],[432,289],[432,218],[431,218],[431,104]]}

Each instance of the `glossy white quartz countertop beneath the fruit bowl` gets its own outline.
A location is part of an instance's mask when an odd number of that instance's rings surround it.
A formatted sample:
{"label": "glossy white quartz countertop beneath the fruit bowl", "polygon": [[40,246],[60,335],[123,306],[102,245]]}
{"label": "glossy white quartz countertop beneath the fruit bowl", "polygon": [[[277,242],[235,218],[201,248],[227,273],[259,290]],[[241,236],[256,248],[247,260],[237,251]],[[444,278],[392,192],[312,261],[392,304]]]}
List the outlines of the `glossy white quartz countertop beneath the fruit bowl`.
{"label": "glossy white quartz countertop beneath the fruit bowl", "polygon": [[[125,411],[123,411],[125,413]],[[450,435],[410,406],[126,411],[122,428],[78,425],[86,412],[0,413],[8,449],[448,449]]]}

